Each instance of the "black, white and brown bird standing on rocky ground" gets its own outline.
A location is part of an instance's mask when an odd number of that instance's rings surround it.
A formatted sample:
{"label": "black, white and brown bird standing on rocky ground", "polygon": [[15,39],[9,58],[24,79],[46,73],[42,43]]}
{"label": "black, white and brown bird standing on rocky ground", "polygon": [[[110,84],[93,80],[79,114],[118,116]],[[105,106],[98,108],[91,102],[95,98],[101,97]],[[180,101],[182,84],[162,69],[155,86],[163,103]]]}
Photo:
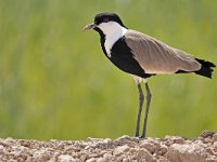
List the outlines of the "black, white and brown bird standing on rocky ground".
{"label": "black, white and brown bird standing on rocky ground", "polygon": [[[139,91],[139,111],[137,114],[136,137],[145,138],[148,116],[152,99],[148,79],[156,75],[195,73],[212,79],[216,65],[212,62],[169,46],[168,44],[140,31],[127,28],[120,17],[113,12],[103,12],[82,28],[93,29],[100,35],[104,55],[120,70],[135,79]],[[144,82],[146,105],[143,130],[140,136],[140,121],[144,94],[141,83]]]}

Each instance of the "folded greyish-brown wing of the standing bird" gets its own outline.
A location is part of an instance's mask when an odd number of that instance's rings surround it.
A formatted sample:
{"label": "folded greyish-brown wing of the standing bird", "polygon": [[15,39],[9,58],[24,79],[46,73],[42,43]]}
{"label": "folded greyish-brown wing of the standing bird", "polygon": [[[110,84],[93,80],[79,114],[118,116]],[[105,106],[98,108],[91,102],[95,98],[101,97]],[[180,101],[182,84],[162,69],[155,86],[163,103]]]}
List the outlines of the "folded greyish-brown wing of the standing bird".
{"label": "folded greyish-brown wing of the standing bird", "polygon": [[201,64],[192,55],[170,48],[148,35],[128,30],[125,39],[146,73],[175,73],[179,70],[191,72],[201,68]]}

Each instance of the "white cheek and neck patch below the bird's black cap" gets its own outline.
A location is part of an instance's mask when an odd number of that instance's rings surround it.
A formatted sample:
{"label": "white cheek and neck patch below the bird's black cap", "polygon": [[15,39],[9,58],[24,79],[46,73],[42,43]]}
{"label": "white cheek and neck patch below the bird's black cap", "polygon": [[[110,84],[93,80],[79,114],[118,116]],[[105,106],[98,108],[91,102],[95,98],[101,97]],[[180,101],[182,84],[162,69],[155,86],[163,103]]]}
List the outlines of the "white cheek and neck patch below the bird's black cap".
{"label": "white cheek and neck patch below the bird's black cap", "polygon": [[116,22],[101,23],[98,27],[105,35],[105,51],[107,56],[111,57],[112,46],[119,38],[126,33],[127,29]]}

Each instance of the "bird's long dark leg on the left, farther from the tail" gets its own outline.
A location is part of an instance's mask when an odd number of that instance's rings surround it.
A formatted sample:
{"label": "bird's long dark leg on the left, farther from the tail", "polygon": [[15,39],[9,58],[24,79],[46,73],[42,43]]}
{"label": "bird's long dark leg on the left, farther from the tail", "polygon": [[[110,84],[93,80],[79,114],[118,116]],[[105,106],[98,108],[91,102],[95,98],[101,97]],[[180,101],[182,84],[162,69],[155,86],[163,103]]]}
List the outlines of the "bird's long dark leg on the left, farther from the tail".
{"label": "bird's long dark leg on the left, farther from the tail", "polygon": [[144,102],[144,95],[143,95],[140,83],[138,84],[138,90],[139,90],[139,112],[138,112],[138,117],[137,117],[137,129],[136,129],[136,135],[135,135],[136,137],[139,137],[140,119],[141,119],[142,106],[143,106],[143,102]]}

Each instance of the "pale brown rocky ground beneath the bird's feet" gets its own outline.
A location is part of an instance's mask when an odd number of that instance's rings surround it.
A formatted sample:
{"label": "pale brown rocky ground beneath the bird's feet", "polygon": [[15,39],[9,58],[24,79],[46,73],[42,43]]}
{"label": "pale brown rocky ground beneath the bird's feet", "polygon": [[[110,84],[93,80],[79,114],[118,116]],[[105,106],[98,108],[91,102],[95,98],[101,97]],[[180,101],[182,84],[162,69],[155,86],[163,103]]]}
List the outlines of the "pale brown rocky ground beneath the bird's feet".
{"label": "pale brown rocky ground beneath the bird's feet", "polygon": [[204,132],[195,139],[179,136],[49,141],[0,138],[0,161],[217,162],[217,133]]}

